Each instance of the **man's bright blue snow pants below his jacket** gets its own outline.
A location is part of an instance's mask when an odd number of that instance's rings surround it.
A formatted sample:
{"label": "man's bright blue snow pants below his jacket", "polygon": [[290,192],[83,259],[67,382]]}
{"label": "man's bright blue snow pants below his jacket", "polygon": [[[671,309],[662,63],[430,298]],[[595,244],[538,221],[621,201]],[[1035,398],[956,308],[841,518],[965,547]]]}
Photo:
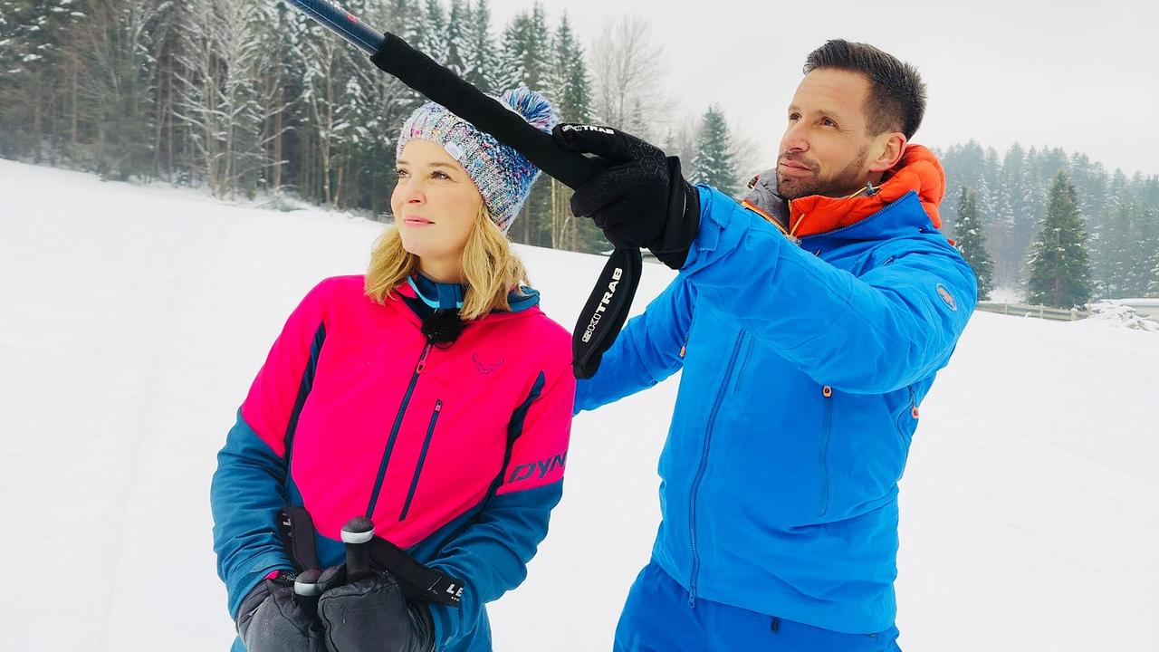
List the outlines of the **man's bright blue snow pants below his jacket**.
{"label": "man's bright blue snow pants below his jacket", "polygon": [[615,652],[901,652],[897,628],[869,635],[818,629],[698,597],[655,562],[636,577],[615,628]]}

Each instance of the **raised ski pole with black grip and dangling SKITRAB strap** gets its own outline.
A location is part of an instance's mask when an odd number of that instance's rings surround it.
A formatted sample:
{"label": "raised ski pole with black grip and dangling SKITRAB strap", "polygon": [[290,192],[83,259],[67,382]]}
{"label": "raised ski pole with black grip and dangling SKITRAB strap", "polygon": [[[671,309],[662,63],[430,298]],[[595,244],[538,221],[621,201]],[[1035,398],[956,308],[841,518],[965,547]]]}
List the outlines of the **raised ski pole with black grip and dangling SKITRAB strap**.
{"label": "raised ski pole with black grip and dangling SKITRAB strap", "polygon": [[[384,72],[490,133],[570,188],[578,188],[602,168],[595,160],[555,144],[515,111],[415,50],[406,41],[379,34],[333,0],[286,0],[335,34],[371,55]],[[624,326],[640,284],[643,262],[637,248],[617,247],[608,256],[571,332],[573,370],[590,378],[604,352]]]}

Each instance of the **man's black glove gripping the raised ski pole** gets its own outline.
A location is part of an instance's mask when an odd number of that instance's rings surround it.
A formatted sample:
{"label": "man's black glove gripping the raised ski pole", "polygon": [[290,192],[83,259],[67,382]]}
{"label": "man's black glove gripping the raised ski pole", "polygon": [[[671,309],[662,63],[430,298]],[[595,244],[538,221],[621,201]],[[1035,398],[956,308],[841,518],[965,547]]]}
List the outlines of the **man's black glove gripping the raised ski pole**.
{"label": "man's black glove gripping the raised ski pole", "polygon": [[608,165],[576,188],[571,212],[592,218],[617,247],[647,247],[672,269],[684,267],[700,229],[700,197],[680,175],[680,159],[607,126],[560,124],[552,136]]}

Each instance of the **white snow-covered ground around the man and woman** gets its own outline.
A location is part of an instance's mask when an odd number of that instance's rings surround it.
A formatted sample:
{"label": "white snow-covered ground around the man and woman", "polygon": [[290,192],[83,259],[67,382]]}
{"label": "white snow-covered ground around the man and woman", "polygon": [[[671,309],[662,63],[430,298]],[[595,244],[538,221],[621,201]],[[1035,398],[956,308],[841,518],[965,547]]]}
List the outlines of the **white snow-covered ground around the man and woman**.
{"label": "white snow-covered ground around the man and woman", "polygon": [[[292,306],[380,229],[0,161],[0,650],[227,649],[214,455]],[[600,259],[522,253],[570,327]],[[649,266],[637,307],[670,277]],[[675,390],[576,419],[497,650],[610,649]],[[1159,650],[1159,334],[978,313],[921,420],[905,650]]]}

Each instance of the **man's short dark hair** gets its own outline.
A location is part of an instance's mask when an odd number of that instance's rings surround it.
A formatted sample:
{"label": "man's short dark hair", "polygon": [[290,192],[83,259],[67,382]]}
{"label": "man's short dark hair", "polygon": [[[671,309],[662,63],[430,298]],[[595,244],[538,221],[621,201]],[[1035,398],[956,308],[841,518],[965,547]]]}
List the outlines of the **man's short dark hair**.
{"label": "man's short dark hair", "polygon": [[866,116],[873,136],[901,131],[913,138],[926,113],[926,85],[918,68],[866,43],[836,38],[817,48],[804,60],[804,73],[837,68],[869,78]]}

